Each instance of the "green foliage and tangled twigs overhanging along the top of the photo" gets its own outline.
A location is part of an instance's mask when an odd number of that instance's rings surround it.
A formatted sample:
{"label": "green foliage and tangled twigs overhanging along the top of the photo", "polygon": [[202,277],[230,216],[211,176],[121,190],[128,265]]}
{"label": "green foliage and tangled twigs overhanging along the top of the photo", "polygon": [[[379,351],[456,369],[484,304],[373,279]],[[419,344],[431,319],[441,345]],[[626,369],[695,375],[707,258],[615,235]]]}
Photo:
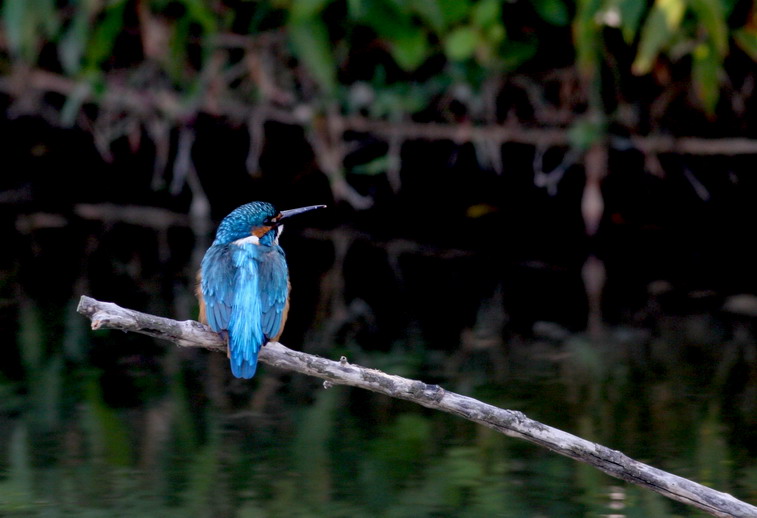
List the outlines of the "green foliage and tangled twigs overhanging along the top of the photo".
{"label": "green foliage and tangled twigs overhanging along the top of the photo", "polygon": [[[155,138],[203,112],[276,119],[332,153],[320,160],[333,186],[347,152],[334,139],[377,121],[517,119],[586,148],[611,127],[665,133],[683,109],[710,131],[748,109],[721,101],[749,97],[757,59],[757,8],[732,0],[3,0],[0,12],[0,89],[63,124],[86,119],[105,154],[135,128]],[[369,121],[322,138],[324,114]],[[501,162],[492,142],[422,131]]]}

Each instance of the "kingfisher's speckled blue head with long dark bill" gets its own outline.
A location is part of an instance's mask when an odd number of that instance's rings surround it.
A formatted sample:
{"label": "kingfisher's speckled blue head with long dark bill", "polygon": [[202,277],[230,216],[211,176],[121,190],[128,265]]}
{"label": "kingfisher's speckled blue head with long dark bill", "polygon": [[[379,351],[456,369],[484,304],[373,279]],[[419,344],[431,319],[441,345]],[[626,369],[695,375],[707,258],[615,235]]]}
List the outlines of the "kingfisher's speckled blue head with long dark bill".
{"label": "kingfisher's speckled blue head with long dark bill", "polygon": [[271,245],[279,240],[284,229],[284,220],[325,205],[310,205],[299,209],[278,211],[264,201],[253,201],[237,207],[223,218],[216,232],[214,244],[229,244],[235,241]]}

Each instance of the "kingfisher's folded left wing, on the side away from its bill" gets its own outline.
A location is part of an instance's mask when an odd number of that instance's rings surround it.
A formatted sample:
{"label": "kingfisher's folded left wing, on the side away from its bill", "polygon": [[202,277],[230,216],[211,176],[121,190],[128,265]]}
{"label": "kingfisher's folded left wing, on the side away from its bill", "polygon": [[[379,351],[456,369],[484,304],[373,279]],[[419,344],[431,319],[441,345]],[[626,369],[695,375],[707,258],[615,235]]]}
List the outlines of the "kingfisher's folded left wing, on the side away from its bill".
{"label": "kingfisher's folded left wing, on the side away from its bill", "polygon": [[211,246],[201,265],[200,289],[210,328],[220,333],[229,328],[234,303],[234,271],[229,245]]}

